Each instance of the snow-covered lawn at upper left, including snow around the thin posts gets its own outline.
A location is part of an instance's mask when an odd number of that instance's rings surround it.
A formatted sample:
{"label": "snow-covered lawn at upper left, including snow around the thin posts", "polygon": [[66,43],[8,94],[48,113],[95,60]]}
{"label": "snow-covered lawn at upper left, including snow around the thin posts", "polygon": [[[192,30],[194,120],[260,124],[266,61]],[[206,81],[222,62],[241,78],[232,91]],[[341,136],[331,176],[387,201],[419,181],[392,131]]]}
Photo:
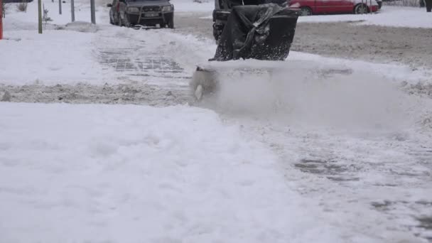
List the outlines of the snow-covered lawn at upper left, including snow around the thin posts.
{"label": "snow-covered lawn at upper left, including snow around the thin posts", "polygon": [[[68,27],[65,25],[71,21],[69,1],[62,5],[61,15],[58,1],[44,0],[43,5],[53,20],[44,24],[43,34],[38,34],[37,1],[29,3],[25,13],[16,11],[16,4],[9,5],[4,18],[5,39],[0,41],[0,82],[12,85],[101,83],[102,67],[94,53],[95,43],[92,43],[95,38],[92,32],[99,27],[89,26],[90,5],[87,1],[75,1],[77,22]],[[97,8],[99,25],[107,18],[105,14],[106,10]],[[55,26],[65,31],[55,31]]]}

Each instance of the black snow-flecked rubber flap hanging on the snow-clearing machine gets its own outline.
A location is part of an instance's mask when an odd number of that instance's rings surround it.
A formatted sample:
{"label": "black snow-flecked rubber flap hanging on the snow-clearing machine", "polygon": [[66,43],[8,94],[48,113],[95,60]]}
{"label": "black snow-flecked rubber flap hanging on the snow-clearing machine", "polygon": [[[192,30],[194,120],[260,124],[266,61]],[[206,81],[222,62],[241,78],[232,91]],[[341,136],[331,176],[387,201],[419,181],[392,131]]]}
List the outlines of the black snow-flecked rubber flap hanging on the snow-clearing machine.
{"label": "black snow-flecked rubber flap hanging on the snow-clearing machine", "polygon": [[234,6],[220,36],[215,58],[285,60],[298,13],[279,4]]}

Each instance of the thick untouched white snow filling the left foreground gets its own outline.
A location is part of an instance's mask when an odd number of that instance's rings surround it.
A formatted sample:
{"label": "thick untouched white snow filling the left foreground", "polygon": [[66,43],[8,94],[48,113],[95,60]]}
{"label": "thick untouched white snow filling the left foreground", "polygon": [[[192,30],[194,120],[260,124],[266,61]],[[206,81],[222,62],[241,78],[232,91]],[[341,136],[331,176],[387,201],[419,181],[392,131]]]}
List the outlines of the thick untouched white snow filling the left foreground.
{"label": "thick untouched white snow filling the left foreground", "polygon": [[346,242],[208,110],[1,103],[0,117],[0,242]]}

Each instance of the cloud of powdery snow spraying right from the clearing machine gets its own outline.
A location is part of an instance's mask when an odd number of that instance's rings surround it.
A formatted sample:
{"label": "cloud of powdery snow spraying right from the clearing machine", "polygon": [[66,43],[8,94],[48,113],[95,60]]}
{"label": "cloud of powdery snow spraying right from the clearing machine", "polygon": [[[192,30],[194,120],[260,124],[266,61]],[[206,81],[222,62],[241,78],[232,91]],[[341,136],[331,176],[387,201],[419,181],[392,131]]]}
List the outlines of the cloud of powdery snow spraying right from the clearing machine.
{"label": "cloud of powdery snow spraying right from the clearing machine", "polygon": [[343,128],[408,125],[409,97],[367,71],[293,62],[271,72],[219,76],[222,112],[277,116],[290,124]]}

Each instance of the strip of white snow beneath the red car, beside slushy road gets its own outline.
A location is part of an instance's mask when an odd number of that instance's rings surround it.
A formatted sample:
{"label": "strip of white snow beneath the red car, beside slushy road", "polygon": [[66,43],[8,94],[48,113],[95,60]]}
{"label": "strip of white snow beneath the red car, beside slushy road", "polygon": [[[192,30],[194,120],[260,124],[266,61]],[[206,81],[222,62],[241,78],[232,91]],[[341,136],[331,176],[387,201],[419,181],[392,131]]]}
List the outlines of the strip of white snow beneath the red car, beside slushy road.
{"label": "strip of white snow beneath the red car, beside slushy road", "polygon": [[298,18],[298,23],[339,21],[361,21],[356,23],[359,25],[432,28],[431,13],[426,13],[424,8],[412,7],[382,6],[379,12],[372,14],[335,14]]}

